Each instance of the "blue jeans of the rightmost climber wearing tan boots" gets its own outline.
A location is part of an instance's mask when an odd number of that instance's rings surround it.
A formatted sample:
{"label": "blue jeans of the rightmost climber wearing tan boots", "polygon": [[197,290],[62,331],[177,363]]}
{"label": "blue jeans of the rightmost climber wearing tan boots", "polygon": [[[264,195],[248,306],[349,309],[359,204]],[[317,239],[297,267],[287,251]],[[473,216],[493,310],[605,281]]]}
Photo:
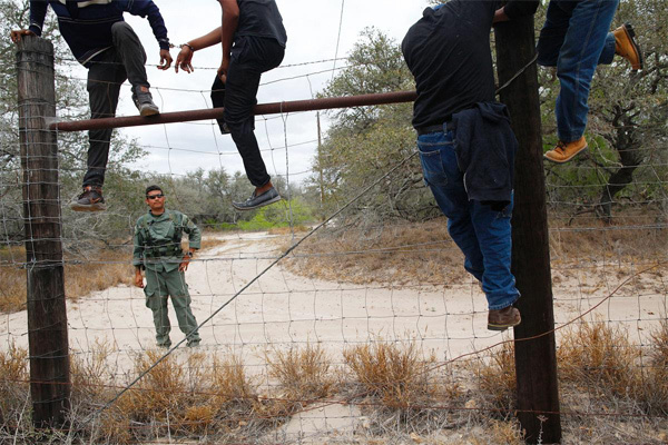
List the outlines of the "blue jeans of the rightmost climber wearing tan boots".
{"label": "blue jeans of the rightmost climber wearing tan boots", "polygon": [[609,32],[619,0],[551,0],[538,41],[538,63],[557,67],[559,139],[572,142],[584,135],[589,89],[599,63],[615,57]]}

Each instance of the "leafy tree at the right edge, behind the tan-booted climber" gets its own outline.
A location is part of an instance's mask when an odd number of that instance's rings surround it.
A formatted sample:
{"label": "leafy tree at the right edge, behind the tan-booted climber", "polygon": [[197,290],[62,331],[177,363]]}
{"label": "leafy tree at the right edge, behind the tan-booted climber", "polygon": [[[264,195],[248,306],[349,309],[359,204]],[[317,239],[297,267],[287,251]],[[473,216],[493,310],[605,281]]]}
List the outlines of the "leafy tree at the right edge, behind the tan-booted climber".
{"label": "leafy tree at the right edge, behind the tan-booted climber", "polygon": [[[595,211],[609,222],[612,205],[621,198],[658,208],[660,218],[667,214],[668,11],[662,0],[626,0],[613,27],[627,21],[644,49],[645,69],[632,73],[621,58],[599,67],[589,97],[588,152],[567,165],[546,165],[552,208],[576,204],[568,210],[571,216]],[[551,147],[559,83],[551,70],[540,73],[546,146]]]}

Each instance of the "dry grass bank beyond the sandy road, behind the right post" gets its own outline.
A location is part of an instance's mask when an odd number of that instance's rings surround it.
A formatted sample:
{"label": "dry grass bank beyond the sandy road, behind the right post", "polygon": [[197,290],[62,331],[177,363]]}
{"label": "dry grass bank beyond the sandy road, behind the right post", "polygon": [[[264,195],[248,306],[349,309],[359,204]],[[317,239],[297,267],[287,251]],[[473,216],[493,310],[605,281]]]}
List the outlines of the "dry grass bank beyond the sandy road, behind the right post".
{"label": "dry grass bank beyond the sandy road, behind the right post", "polygon": [[[552,222],[556,227],[567,226],[564,221]],[[632,224],[650,221],[636,217]],[[567,228],[573,231],[550,233],[554,264],[591,259],[648,263],[667,258],[665,229],[609,230],[609,225],[598,220],[588,220],[587,225],[576,221]],[[298,275],[354,284],[442,285],[466,276],[463,256],[448,234],[445,218],[325,231],[307,239],[286,265]]]}

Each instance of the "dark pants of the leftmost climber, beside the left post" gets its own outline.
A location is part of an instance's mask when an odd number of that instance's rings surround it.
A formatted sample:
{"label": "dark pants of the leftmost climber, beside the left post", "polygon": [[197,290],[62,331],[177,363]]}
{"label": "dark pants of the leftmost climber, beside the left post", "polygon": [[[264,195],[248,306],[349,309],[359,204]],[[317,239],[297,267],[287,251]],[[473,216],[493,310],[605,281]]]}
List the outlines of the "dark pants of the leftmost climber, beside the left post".
{"label": "dark pants of the leftmost climber, beside the left post", "polygon": [[[132,87],[149,87],[146,68],[146,52],[132,28],[125,21],[111,27],[114,47],[107,49],[88,68],[88,98],[90,118],[111,118],[116,116],[120,86],[129,80]],[[90,130],[88,139],[88,171],[84,186],[105,184],[105,171],[109,159],[111,129]]]}

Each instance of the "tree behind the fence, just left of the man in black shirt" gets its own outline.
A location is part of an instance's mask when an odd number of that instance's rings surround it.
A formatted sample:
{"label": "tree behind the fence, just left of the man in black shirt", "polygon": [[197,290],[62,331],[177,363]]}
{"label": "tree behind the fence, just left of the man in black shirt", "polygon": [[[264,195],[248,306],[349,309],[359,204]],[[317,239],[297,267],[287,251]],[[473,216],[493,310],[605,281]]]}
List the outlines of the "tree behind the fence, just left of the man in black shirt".
{"label": "tree behind the fence, just left of the man in black shirt", "polygon": [[[334,77],[321,97],[415,88],[399,44],[376,29],[362,32],[347,60],[348,67]],[[323,186],[325,208],[333,210],[414,152],[415,132],[410,103],[351,108],[330,116],[332,126],[321,155],[314,159],[313,169],[318,176],[308,185],[318,194]],[[353,211],[366,222],[389,217],[421,219],[425,214],[438,214],[416,158],[356,204]]]}

